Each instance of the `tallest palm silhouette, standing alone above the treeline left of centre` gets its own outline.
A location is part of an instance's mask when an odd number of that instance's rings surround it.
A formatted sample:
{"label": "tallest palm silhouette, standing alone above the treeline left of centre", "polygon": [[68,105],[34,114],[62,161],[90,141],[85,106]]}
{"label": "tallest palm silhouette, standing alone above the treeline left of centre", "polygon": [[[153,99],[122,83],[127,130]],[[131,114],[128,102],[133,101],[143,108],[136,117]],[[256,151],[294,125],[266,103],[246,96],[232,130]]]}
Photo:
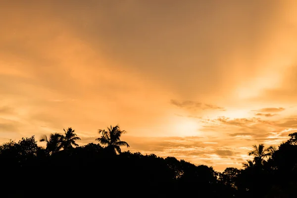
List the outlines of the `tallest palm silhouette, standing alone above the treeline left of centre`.
{"label": "tallest palm silhouette, standing alone above the treeline left of centre", "polygon": [[121,135],[126,131],[121,131],[118,125],[114,127],[110,125],[110,128],[107,127],[107,131],[99,129],[98,133],[101,134],[101,137],[95,140],[99,141],[101,145],[106,145],[106,148],[111,148],[113,152],[116,150],[121,153],[121,146],[130,147],[128,143],[120,140]]}

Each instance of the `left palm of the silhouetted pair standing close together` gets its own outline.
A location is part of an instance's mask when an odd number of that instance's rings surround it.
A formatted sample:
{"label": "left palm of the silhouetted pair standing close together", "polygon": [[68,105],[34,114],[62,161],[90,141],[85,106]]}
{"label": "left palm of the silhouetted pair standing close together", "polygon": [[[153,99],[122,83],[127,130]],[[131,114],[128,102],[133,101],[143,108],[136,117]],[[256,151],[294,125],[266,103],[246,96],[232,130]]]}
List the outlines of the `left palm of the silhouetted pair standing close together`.
{"label": "left palm of the silhouetted pair standing close together", "polygon": [[49,154],[58,152],[62,148],[62,135],[58,133],[50,134],[49,138],[43,135],[39,141],[47,143],[46,150]]}

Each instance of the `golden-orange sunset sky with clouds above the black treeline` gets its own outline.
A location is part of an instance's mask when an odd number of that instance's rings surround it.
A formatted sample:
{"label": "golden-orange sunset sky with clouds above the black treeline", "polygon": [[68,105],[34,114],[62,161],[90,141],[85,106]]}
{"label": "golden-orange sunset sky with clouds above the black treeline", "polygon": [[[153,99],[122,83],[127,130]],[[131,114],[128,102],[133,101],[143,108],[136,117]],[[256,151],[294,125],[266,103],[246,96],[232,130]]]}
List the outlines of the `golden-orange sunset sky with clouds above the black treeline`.
{"label": "golden-orange sunset sky with clouds above the black treeline", "polygon": [[222,171],[297,132],[296,0],[1,0],[0,24],[0,143],[118,124]]}

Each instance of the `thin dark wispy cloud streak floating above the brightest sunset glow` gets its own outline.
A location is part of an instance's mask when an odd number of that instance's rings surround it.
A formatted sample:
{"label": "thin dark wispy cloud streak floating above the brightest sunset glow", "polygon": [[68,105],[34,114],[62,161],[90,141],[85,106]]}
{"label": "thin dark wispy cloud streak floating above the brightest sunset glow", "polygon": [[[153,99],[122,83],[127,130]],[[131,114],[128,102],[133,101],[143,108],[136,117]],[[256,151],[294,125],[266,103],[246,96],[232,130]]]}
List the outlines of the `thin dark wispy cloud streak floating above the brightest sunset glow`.
{"label": "thin dark wispy cloud streak floating above the brightest sunset glow", "polygon": [[183,101],[179,101],[176,99],[171,99],[170,103],[181,107],[181,108],[187,108],[187,109],[202,109],[202,110],[222,110],[225,111],[226,109],[224,107],[220,107],[220,106],[216,106],[213,104],[205,104],[202,102],[196,102],[196,101],[191,101],[191,100],[183,100]]}

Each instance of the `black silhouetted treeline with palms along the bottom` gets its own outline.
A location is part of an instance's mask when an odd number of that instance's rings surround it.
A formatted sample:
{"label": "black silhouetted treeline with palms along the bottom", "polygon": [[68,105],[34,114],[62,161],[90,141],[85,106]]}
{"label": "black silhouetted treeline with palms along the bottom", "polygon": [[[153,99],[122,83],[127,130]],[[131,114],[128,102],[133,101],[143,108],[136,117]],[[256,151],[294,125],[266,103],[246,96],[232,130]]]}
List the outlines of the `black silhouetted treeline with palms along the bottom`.
{"label": "black silhouetted treeline with palms along the bottom", "polygon": [[297,133],[278,148],[254,145],[243,169],[222,173],[169,156],[121,151],[125,131],[99,130],[99,144],[78,146],[72,128],[64,134],[9,141],[0,146],[1,192],[9,197],[297,197]]}

